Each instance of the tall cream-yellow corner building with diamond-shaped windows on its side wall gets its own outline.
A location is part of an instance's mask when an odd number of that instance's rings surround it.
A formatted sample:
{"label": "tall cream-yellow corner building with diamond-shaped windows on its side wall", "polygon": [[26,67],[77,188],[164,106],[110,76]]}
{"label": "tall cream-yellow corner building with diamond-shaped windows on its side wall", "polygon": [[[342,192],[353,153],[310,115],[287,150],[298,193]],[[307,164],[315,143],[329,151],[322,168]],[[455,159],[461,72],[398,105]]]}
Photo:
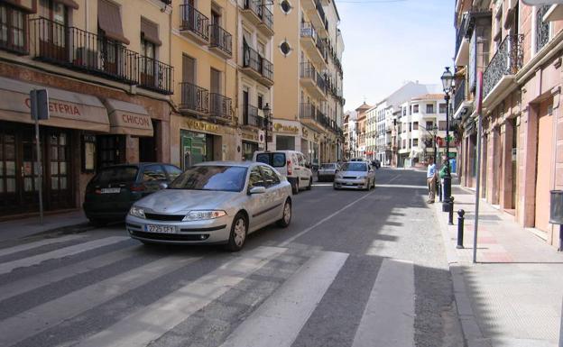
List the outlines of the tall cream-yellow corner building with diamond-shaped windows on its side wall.
{"label": "tall cream-yellow corner building with diamond-shaped windows on its side wall", "polygon": [[342,34],[334,1],[276,2],[272,147],[342,159]]}

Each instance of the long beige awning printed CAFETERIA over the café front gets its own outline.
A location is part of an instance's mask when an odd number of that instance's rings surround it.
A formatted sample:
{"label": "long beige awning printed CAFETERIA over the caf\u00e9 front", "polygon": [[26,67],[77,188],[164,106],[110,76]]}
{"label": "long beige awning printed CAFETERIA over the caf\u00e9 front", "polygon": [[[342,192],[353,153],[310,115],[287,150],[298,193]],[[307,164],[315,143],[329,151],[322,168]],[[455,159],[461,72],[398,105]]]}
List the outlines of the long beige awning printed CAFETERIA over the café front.
{"label": "long beige awning printed CAFETERIA over the caf\u00e9 front", "polygon": [[87,96],[52,87],[32,85],[12,78],[0,78],[0,120],[33,123],[30,91],[47,89],[50,119],[42,125],[109,132],[106,107],[96,96]]}

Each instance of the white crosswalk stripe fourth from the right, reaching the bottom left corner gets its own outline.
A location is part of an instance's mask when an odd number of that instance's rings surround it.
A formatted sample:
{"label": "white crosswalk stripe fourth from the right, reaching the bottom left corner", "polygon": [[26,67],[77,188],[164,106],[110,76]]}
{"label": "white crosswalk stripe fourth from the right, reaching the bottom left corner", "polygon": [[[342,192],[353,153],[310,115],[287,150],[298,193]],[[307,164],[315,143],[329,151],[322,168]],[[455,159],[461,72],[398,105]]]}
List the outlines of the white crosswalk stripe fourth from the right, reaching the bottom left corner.
{"label": "white crosswalk stripe fourth from the right, reaching the bottom left corner", "polygon": [[[40,333],[64,319],[99,306],[113,297],[139,288],[152,280],[198,260],[195,257],[171,256],[153,261],[115,277],[51,300],[5,319],[0,324],[0,346],[9,346]],[[108,344],[109,345],[109,344]]]}

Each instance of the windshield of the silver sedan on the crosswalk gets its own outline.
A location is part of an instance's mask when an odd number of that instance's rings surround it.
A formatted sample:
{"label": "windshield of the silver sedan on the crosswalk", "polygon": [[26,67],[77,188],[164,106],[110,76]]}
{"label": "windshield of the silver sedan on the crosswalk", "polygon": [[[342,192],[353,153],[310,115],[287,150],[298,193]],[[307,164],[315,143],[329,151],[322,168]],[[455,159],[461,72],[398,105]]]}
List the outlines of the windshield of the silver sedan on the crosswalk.
{"label": "windshield of the silver sedan on the crosswalk", "polygon": [[196,166],[171,182],[170,189],[240,192],[245,187],[246,168],[237,166]]}

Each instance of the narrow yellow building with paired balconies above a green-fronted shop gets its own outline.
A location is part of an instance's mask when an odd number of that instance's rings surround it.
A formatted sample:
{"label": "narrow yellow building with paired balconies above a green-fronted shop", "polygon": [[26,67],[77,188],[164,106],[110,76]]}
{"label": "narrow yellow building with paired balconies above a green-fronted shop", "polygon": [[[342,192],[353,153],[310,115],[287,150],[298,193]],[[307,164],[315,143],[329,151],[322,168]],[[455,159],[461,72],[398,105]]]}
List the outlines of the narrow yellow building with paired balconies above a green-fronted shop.
{"label": "narrow yellow building with paired balconies above a green-fronted shop", "polygon": [[229,0],[171,2],[171,161],[235,160],[237,8]]}

